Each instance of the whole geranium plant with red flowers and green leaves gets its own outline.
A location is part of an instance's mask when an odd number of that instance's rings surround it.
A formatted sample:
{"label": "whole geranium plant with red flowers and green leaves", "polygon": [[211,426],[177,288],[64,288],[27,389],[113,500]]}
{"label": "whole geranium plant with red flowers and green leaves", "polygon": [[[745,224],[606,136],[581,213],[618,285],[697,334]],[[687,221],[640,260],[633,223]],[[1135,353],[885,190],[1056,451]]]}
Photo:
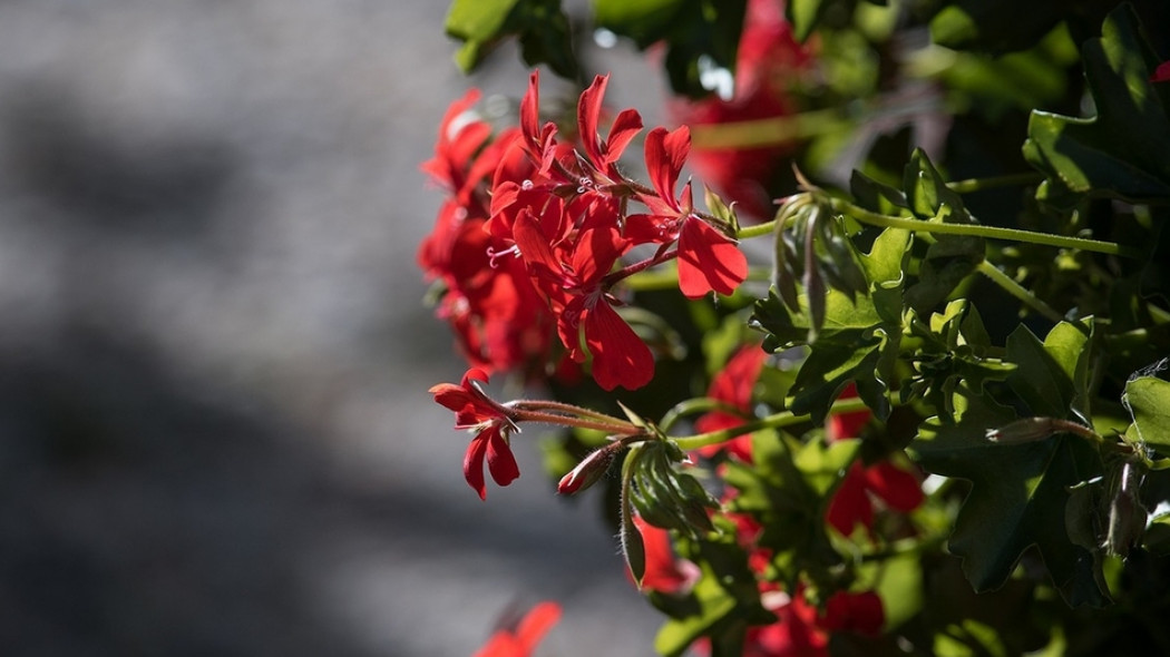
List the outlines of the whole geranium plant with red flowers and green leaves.
{"label": "whole geranium plant with red flowers and green leaves", "polygon": [[[612,489],[663,655],[1170,652],[1168,25],[456,0],[462,67],[512,37],[535,67],[424,165],[468,484],[543,436],[558,493]],[[662,63],[670,125],[606,104],[573,41],[603,28]]]}

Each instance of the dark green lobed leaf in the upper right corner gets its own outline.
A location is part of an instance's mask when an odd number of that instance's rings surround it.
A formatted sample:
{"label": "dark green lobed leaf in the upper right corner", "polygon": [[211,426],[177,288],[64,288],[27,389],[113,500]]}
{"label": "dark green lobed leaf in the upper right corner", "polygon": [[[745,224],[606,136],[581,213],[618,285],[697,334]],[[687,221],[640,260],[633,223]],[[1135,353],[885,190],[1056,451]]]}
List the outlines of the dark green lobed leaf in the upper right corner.
{"label": "dark green lobed leaf in the upper right corner", "polygon": [[1066,208],[1085,196],[1170,198],[1170,112],[1149,82],[1158,58],[1133,8],[1113,11],[1082,58],[1097,116],[1032,112],[1024,157],[1047,175],[1037,196]]}

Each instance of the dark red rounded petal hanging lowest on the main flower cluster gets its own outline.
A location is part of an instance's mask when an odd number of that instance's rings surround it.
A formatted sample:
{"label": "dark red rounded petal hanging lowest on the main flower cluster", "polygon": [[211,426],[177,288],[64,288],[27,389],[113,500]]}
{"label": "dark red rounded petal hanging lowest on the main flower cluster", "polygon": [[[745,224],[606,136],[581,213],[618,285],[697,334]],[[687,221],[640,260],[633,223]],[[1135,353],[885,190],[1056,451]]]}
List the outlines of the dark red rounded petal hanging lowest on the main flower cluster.
{"label": "dark red rounded petal hanging lowest on the main flower cluster", "polygon": [[606,390],[634,390],[654,378],[649,347],[604,300],[585,316],[585,344],[593,354],[593,380]]}

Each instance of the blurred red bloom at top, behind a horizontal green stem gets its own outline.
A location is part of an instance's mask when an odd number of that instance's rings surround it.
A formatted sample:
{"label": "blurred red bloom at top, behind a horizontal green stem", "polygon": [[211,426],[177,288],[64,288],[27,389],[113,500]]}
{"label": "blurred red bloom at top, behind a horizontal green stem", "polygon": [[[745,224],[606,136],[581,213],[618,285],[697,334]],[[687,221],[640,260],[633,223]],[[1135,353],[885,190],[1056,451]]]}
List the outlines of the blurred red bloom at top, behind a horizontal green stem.
{"label": "blurred red bloom at top, behind a horizontal green stem", "polygon": [[[812,60],[792,37],[784,18],[783,0],[749,0],[739,50],[736,88],[731,98],[681,101],[672,106],[680,123],[721,124],[789,116],[794,111],[786,91],[789,81]],[[698,175],[739,208],[757,219],[771,219],[768,191],[787,144],[755,148],[698,148],[691,165]]]}

